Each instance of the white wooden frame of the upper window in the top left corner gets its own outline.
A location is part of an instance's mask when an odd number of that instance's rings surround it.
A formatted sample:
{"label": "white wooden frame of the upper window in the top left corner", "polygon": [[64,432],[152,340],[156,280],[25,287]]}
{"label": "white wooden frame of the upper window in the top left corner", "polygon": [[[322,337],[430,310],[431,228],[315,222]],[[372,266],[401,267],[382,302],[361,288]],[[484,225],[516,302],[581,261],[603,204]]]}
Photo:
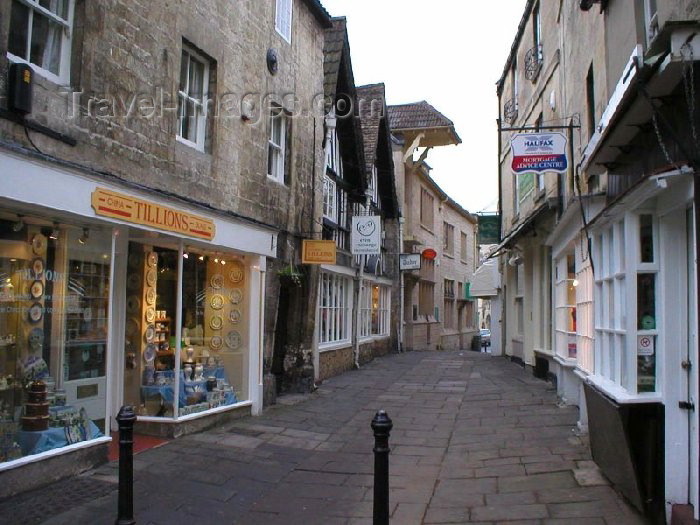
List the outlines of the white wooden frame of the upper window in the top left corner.
{"label": "white wooden frame of the upper window in the top left corner", "polygon": [[[36,73],[42,77],[50,80],[54,84],[68,85],[70,83],[70,59],[71,59],[71,37],[73,34],[73,16],[75,14],[75,0],[68,1],[68,18],[63,19],[60,16],[52,13],[45,7],[39,5],[38,0],[11,0],[13,3],[18,2],[27,6],[29,9],[29,20],[27,21],[27,57],[20,57],[7,52],[7,58],[10,62],[28,64]],[[10,4],[10,10],[12,9],[12,4]],[[47,17],[52,22],[55,22],[63,27],[63,35],[61,39],[61,57],[59,59],[59,73],[56,75],[48,69],[34,64],[29,61],[31,58],[31,42],[32,42],[32,27],[34,20],[34,13],[38,12],[42,16]],[[9,13],[8,13],[9,14]],[[8,35],[9,38],[9,35]]]}

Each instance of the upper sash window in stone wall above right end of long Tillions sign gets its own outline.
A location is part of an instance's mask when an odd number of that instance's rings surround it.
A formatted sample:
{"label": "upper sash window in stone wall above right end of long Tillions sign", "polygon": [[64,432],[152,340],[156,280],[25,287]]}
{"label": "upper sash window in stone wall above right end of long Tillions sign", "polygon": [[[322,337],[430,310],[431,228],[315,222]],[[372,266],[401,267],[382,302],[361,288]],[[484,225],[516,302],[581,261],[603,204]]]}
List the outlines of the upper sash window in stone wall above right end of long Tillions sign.
{"label": "upper sash window in stone wall above right end of long Tillions sign", "polygon": [[204,151],[207,132],[207,92],[210,61],[183,44],[178,89],[177,138]]}

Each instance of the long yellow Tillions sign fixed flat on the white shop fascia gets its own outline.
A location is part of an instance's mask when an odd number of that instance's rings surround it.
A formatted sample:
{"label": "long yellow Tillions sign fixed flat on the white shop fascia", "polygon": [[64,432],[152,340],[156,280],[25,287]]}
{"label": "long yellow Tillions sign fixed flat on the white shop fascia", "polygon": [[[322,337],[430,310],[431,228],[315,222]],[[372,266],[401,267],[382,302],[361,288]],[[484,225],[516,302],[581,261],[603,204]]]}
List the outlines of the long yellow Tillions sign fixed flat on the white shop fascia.
{"label": "long yellow Tillions sign fixed flat on the white shop fascia", "polygon": [[188,237],[214,239],[214,221],[104,188],[92,192],[92,208],[97,215],[133,224],[179,233]]}

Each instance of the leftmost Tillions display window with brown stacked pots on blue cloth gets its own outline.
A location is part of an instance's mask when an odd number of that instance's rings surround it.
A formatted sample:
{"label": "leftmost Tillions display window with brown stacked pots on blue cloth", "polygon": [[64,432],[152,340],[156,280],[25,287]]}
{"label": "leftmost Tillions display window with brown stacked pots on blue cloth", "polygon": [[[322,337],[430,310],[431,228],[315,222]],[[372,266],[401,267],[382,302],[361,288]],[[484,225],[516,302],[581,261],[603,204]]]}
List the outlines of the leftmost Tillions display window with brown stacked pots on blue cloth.
{"label": "leftmost Tillions display window with brown stacked pots on blue cloth", "polygon": [[0,461],[103,436],[111,230],[0,218]]}

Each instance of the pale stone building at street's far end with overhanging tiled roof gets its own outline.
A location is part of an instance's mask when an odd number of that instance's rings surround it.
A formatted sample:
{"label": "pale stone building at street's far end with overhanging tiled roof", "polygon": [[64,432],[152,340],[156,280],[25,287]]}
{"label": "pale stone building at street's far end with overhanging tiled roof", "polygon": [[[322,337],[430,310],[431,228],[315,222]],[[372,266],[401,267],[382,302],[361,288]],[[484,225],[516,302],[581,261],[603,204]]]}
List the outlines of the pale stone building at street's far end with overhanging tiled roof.
{"label": "pale stone building at street's far end with overhanging tiled roof", "polygon": [[[453,123],[425,101],[389,107],[402,203],[403,253],[421,253],[421,269],[402,272],[403,340],[409,349],[466,348],[478,333],[469,281],[478,262],[476,218],[430,177],[431,148],[461,142]],[[421,155],[413,159],[417,148]],[[434,250],[435,258],[425,257]]]}

